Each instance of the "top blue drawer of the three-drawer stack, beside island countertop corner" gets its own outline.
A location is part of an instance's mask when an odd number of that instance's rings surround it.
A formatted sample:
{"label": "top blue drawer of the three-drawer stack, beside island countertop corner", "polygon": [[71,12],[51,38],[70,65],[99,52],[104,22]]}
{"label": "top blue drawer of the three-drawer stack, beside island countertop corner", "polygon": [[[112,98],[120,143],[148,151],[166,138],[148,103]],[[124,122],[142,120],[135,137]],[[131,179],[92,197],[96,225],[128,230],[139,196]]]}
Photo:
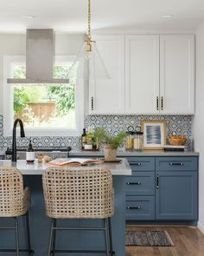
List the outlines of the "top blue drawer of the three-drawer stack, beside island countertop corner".
{"label": "top blue drawer of the three-drawer stack, beside island countertop corner", "polygon": [[154,171],[155,158],[154,157],[127,157],[131,165],[132,172],[134,171]]}

